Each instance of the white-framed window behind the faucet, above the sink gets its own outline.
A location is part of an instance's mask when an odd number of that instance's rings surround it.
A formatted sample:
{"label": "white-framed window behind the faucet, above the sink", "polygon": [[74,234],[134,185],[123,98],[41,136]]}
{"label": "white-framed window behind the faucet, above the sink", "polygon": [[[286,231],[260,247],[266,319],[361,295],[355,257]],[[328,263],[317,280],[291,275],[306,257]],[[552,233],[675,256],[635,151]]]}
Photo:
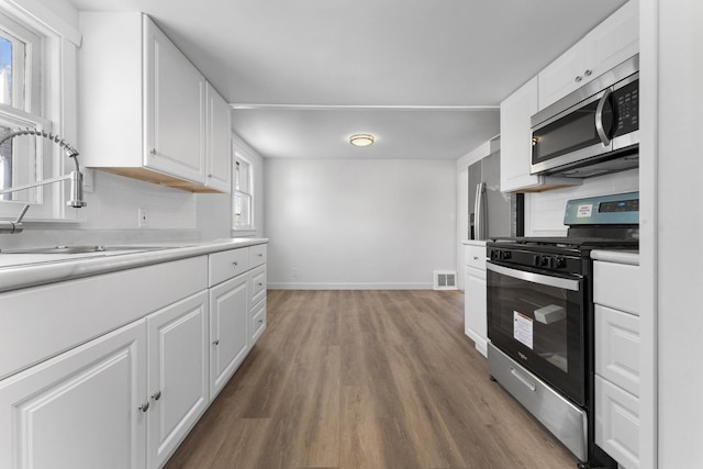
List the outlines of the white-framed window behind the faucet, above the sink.
{"label": "white-framed window behind the faucet, above the sink", "polygon": [[[0,135],[30,127],[75,144],[80,32],[42,2],[16,3],[0,1]],[[0,147],[0,188],[63,176],[66,165],[72,169],[47,138],[12,138]],[[65,182],[0,194],[0,217],[14,220],[29,203],[25,221],[80,220],[85,211],[63,203],[69,197]]]}

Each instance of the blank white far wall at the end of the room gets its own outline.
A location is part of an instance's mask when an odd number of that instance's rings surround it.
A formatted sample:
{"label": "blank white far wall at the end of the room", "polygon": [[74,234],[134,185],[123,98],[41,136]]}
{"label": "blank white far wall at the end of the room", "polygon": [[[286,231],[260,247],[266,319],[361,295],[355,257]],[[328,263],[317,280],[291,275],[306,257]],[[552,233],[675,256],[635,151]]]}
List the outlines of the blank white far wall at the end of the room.
{"label": "blank white far wall at the end of the room", "polygon": [[455,270],[456,161],[266,159],[265,199],[270,288],[429,289]]}

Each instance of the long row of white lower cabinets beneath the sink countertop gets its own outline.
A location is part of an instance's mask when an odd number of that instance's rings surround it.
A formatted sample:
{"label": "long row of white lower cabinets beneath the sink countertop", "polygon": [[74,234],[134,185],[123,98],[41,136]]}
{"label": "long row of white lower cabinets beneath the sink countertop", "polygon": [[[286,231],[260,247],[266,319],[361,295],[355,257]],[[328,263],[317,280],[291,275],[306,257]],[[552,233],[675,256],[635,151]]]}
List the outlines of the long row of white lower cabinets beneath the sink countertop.
{"label": "long row of white lower cabinets beneath the sink countertop", "polygon": [[244,247],[0,293],[0,468],[163,467],[266,328],[266,266],[248,263]]}

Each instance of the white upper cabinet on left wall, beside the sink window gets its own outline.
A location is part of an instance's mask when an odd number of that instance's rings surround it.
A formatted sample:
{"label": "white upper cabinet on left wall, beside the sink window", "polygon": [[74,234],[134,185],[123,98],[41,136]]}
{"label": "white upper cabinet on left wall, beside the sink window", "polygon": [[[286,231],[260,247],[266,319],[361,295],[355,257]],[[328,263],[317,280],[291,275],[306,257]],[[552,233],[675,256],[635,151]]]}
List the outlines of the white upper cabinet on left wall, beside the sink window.
{"label": "white upper cabinet on left wall, beside the sink window", "polygon": [[[211,113],[217,122],[208,122],[202,74],[140,12],[81,12],[80,27],[81,161],[193,192],[227,192],[228,182],[208,175],[230,178],[228,109],[219,101]],[[227,160],[209,161],[222,155],[224,127]],[[217,136],[210,138],[211,130]]]}

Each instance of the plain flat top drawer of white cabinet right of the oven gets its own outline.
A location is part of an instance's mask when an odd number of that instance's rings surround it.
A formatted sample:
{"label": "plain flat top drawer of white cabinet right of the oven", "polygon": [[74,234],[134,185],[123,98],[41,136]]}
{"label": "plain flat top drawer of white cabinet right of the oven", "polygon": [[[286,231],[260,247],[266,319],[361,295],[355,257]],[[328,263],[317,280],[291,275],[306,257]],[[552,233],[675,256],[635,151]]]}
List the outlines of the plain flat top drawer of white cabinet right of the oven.
{"label": "plain flat top drawer of white cabinet right of the oven", "polygon": [[639,266],[593,263],[593,302],[639,314]]}

